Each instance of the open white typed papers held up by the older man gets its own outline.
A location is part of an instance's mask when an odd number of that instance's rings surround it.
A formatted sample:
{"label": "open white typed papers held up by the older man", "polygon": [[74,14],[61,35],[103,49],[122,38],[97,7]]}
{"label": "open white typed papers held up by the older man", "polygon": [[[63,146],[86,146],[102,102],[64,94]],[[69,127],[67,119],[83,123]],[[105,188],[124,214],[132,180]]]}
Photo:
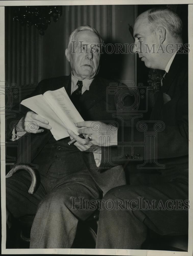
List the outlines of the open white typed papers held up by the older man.
{"label": "open white typed papers held up by the older man", "polygon": [[56,140],[68,137],[68,129],[78,134],[75,123],[84,121],[64,87],[25,99],[21,104],[49,121]]}

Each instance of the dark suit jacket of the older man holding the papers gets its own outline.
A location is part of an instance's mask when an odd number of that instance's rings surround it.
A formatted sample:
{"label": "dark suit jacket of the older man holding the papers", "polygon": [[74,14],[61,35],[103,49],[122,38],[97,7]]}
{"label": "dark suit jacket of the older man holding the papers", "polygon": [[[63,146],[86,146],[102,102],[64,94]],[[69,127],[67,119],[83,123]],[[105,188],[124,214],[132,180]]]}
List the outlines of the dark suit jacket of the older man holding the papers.
{"label": "dark suit jacket of the older man holding the papers", "polygon": [[[112,113],[108,113],[106,111],[107,104],[115,105],[115,102],[107,102],[107,87],[109,86],[110,80],[103,79],[101,77],[96,77],[89,87],[89,91],[86,90],[82,95],[82,105],[84,106],[84,120],[99,120],[99,121],[112,121],[115,120],[112,118]],[[48,90],[57,90],[61,87],[65,87],[68,95],[71,93],[71,75],[62,76],[57,78],[50,78],[42,80],[35,91],[29,96],[32,97],[34,95],[43,94]],[[29,98],[27,97],[27,98]],[[10,123],[18,121],[24,116],[28,111],[30,111],[25,106],[21,106],[21,112],[16,114],[16,118],[8,118],[7,119],[7,139],[11,137],[12,130],[10,129]],[[25,136],[25,135],[24,135]],[[30,134],[30,159],[33,159],[39,154],[41,150],[43,150],[45,144],[48,142],[50,137],[52,136],[49,130],[46,130],[43,133],[38,134]],[[17,141],[13,142],[17,143]],[[73,145],[72,145],[73,146]],[[75,147],[75,146],[73,146]],[[104,193],[106,193],[110,188],[125,184],[125,174],[122,166],[117,166],[115,168],[109,169],[108,172],[97,172],[97,168],[90,168],[90,165],[95,165],[95,160],[93,153],[82,152],[82,157],[85,160],[85,163],[88,167],[88,170],[91,176],[94,178],[95,182],[102,189]],[[76,155],[72,161],[83,161],[82,159],[77,159]],[[46,156],[45,156],[46,162]],[[41,172],[41,170],[39,170]]]}

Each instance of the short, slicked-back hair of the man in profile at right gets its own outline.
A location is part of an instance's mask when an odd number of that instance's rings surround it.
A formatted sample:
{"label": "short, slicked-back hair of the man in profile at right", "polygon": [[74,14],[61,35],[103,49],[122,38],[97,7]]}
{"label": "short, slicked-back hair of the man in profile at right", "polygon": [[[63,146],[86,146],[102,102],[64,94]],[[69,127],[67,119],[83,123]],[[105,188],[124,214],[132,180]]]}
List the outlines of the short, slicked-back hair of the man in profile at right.
{"label": "short, slicked-back hair of the man in profile at right", "polygon": [[164,26],[175,39],[182,38],[182,20],[172,9],[152,8],[148,11],[148,21],[152,32],[159,26]]}

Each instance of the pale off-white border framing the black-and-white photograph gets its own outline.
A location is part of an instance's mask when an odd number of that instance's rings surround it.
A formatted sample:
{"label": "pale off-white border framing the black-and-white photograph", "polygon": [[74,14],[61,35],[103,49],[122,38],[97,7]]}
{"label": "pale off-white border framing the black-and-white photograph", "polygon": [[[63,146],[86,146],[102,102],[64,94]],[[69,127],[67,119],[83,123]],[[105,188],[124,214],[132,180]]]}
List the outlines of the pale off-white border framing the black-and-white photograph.
{"label": "pale off-white border framing the black-and-white photograph", "polygon": [[[14,5],[139,5],[144,4],[143,0],[61,0],[61,1],[0,1],[0,81],[5,81],[5,15],[4,6]],[[147,4],[147,3],[146,3]],[[189,84],[188,84],[188,99],[189,99],[189,232],[188,232],[188,252],[178,251],[159,251],[159,250],[124,250],[124,249],[6,249],[6,210],[5,210],[5,161],[1,161],[1,211],[2,211],[2,254],[90,254],[90,255],[143,255],[143,256],[155,256],[155,255],[191,255],[193,251],[193,55],[191,49],[193,46],[193,1],[180,1],[172,0],[168,3],[165,1],[149,0],[148,4],[189,4],[188,6],[188,43],[190,44],[189,53]],[[5,97],[0,95],[0,107],[5,106]],[[5,113],[1,112],[1,159],[5,159],[5,146],[2,141],[5,141]]]}

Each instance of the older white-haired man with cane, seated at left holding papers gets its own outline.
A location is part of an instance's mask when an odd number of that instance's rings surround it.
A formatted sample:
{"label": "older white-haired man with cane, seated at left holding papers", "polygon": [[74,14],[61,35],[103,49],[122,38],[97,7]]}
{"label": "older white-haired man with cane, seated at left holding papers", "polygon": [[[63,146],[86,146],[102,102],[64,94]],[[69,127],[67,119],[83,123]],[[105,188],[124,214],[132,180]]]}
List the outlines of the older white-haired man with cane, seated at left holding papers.
{"label": "older white-haired man with cane, seated at left holding papers", "polygon": [[[66,49],[71,74],[42,80],[30,97],[65,87],[84,120],[112,121],[112,114],[105,110],[106,90],[113,81],[97,75],[102,42],[94,28],[76,28]],[[21,126],[11,131],[13,121]],[[33,131],[30,124],[34,126]],[[98,147],[94,154],[81,152],[77,143],[74,145],[80,150],[68,145],[70,137],[56,141],[51,128],[46,119],[24,106],[16,118],[7,121],[7,137],[13,143],[20,140],[21,135],[26,136],[25,132],[30,133],[30,159],[32,164],[38,165],[40,176],[40,184],[33,195],[28,194],[31,183],[28,173],[17,172],[6,179],[6,207],[11,215],[18,218],[35,214],[30,248],[71,248],[78,220],[86,220],[94,212],[89,205],[85,209],[84,202],[99,199],[110,188],[125,184],[122,167],[102,173],[96,171],[100,162]],[[87,139],[84,144],[87,149],[92,145]],[[73,201],[71,197],[76,199]]]}

